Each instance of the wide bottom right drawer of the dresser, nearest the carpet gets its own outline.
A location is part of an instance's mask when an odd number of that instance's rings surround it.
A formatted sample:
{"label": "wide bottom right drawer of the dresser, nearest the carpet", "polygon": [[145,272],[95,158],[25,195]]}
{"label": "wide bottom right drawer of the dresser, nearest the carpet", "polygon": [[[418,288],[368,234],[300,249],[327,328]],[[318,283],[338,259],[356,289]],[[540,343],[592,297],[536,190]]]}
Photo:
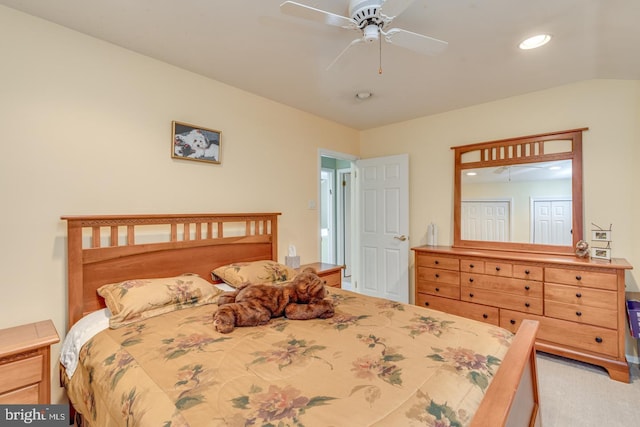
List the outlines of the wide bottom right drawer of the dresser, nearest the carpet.
{"label": "wide bottom right drawer of the dresser, nearest the carpet", "polygon": [[612,329],[533,316],[517,311],[500,310],[500,326],[511,332],[516,332],[524,319],[540,322],[540,329],[538,329],[536,337],[538,340],[618,357],[618,335]]}

